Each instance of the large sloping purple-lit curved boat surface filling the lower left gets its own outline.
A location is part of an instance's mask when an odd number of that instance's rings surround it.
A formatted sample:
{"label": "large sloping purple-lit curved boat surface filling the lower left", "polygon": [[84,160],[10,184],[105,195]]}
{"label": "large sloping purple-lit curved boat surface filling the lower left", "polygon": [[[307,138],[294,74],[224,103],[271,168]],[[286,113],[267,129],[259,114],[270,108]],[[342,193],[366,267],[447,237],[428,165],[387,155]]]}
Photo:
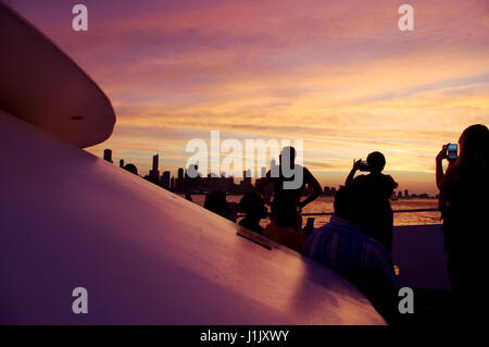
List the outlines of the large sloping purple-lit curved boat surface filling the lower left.
{"label": "large sloping purple-lit curved boat surface filling the lower left", "polygon": [[385,323],[331,270],[1,111],[0,146],[0,323]]}

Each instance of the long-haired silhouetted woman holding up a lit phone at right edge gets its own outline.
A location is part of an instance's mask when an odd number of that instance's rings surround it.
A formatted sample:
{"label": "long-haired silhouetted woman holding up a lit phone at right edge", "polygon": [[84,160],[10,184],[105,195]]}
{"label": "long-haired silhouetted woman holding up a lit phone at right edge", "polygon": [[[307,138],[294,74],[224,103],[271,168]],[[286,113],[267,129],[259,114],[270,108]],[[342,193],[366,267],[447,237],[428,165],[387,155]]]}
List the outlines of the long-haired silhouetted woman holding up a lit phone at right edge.
{"label": "long-haired silhouetted woman holding up a lit phone at right edge", "polygon": [[[442,160],[447,146],[436,158],[439,208],[443,219],[444,250],[448,274],[456,308],[475,312],[479,307],[481,277],[487,272],[487,234],[489,212],[489,132],[485,125],[467,127],[459,139],[460,156],[449,161],[443,174]],[[460,314],[462,319],[466,314]],[[468,317],[467,317],[468,318]]]}

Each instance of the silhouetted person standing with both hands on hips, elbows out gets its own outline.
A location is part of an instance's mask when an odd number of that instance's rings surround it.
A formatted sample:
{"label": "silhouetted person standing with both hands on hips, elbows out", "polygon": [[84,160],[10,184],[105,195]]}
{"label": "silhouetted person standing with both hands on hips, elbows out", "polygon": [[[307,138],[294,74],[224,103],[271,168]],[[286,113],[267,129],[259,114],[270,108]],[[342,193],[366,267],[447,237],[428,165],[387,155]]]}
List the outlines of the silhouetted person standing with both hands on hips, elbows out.
{"label": "silhouetted person standing with both hands on hips, elbows out", "polygon": [[[290,226],[300,232],[302,230],[302,221],[300,211],[308,203],[314,201],[323,191],[317,179],[311,172],[299,164],[296,164],[296,149],[293,147],[284,147],[279,157],[279,165],[277,170],[271,170],[266,173],[266,177],[260,179],[256,188],[265,200],[269,202],[272,199],[265,191],[265,186],[273,183],[274,199],[272,201],[271,220],[278,226]],[[302,179],[296,174],[289,175],[287,170],[294,170],[302,174]],[[276,176],[274,176],[276,174]],[[288,177],[289,176],[289,177]],[[285,183],[298,182],[298,188],[287,188]],[[311,187],[311,194],[304,199],[300,200],[305,185]]]}

